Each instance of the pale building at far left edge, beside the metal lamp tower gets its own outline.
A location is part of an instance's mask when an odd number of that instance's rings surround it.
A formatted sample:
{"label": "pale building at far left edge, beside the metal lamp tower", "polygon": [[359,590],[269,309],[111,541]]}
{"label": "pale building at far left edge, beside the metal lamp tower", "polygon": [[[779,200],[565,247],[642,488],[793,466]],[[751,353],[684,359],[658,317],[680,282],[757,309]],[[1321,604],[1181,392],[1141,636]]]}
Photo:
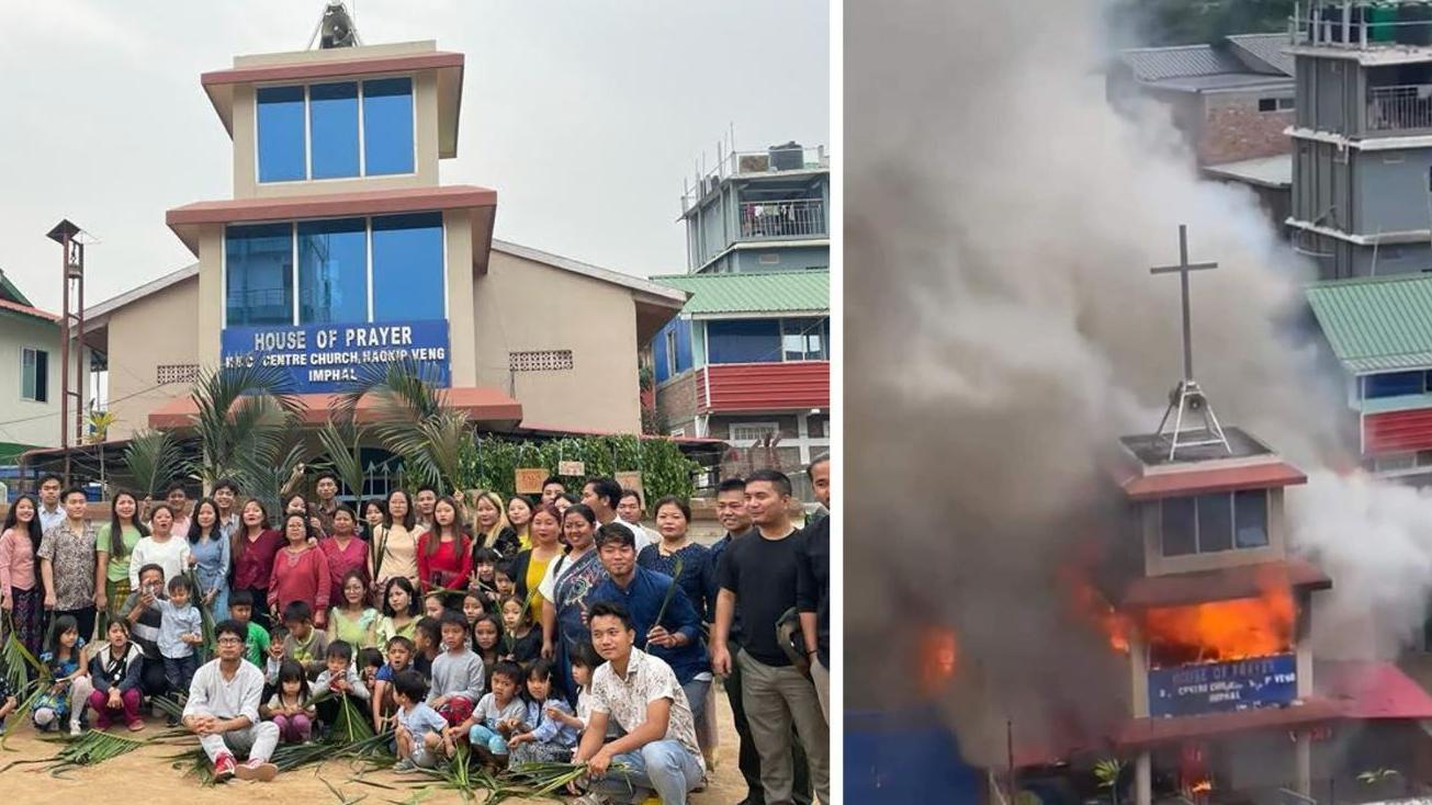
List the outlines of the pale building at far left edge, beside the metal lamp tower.
{"label": "pale building at far left edge, beside the metal lamp tower", "polygon": [[0,464],[60,444],[59,322],[0,271]]}

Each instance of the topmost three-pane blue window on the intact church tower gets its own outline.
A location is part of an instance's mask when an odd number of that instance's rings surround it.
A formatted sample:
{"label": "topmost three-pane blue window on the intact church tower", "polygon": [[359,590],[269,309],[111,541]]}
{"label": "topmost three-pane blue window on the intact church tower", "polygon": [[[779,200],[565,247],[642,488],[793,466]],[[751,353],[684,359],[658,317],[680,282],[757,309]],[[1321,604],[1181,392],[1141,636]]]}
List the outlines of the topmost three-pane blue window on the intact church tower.
{"label": "topmost three-pane blue window on the intact church tower", "polygon": [[412,79],[261,87],[259,182],[412,173]]}

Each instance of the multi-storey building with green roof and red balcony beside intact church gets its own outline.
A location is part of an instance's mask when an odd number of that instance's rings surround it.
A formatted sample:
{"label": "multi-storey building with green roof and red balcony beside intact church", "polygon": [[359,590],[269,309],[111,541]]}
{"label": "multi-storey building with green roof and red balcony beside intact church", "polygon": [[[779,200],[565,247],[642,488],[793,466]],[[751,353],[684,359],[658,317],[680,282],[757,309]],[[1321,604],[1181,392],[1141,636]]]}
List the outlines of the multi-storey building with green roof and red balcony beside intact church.
{"label": "multi-storey building with green roof and red balcony beside intact church", "polygon": [[689,274],[653,276],[690,294],[649,345],[667,433],[773,441],[792,476],[829,445],[829,180],[792,143],[730,153],[683,198]]}

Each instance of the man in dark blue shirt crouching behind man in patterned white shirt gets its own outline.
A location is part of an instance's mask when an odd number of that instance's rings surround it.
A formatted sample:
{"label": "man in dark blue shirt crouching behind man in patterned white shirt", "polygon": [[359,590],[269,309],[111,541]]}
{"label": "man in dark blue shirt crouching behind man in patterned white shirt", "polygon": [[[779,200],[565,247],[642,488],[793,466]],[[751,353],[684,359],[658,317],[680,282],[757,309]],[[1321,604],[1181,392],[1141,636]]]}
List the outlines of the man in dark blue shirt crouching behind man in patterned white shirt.
{"label": "man in dark blue shirt crouching behind man in patterned white shirt", "polygon": [[[597,529],[596,543],[609,579],[591,590],[587,604],[616,602],[627,609],[636,626],[636,646],[672,666],[692,715],[700,719],[712,685],[712,666],[696,607],[670,576],[636,563],[636,537],[629,529],[609,523]],[[656,616],[669,593],[672,600],[657,623]]]}

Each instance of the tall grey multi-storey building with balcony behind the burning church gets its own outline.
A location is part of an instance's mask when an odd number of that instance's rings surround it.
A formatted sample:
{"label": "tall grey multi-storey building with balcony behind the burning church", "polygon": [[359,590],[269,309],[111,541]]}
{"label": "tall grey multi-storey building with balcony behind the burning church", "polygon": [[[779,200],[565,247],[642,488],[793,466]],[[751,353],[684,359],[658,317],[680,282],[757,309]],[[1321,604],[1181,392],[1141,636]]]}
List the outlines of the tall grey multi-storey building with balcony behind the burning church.
{"label": "tall grey multi-storey building with balcony behind the burning church", "polygon": [[1295,245],[1323,279],[1432,268],[1432,6],[1303,11],[1286,49],[1297,64]]}

